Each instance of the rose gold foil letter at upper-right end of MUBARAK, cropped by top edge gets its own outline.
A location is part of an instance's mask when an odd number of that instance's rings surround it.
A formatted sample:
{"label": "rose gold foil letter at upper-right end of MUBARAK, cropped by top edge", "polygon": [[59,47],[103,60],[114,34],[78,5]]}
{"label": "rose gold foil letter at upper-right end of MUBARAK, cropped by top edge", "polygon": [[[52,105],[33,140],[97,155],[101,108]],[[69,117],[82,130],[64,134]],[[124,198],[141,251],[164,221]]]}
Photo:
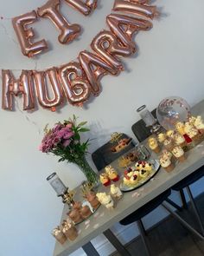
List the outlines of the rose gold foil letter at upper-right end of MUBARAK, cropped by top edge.
{"label": "rose gold foil letter at upper-right end of MUBARAK, cropped by top edge", "polygon": [[156,6],[143,5],[140,2],[141,1],[133,0],[115,0],[112,10],[130,12],[139,16],[146,16],[151,19],[153,19],[155,16],[158,16],[158,10],[156,10]]}

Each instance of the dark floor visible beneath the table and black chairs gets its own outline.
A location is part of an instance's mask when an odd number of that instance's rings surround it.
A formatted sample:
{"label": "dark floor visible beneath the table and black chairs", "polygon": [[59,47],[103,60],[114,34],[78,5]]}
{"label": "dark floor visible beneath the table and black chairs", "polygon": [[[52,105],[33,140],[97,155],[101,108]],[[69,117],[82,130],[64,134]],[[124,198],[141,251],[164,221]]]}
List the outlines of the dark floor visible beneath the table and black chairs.
{"label": "dark floor visible beneath the table and black chairs", "polygon": [[[204,223],[204,194],[196,199],[196,203]],[[191,207],[189,207],[189,210],[191,216],[186,213],[181,215],[192,224],[194,223],[194,213],[192,213]],[[194,226],[196,225],[194,224]],[[148,240],[152,256],[204,256],[204,242],[189,233],[172,217],[151,229],[148,232]],[[140,238],[131,241],[126,247],[133,256],[146,256]],[[112,255],[119,256],[118,253]]]}

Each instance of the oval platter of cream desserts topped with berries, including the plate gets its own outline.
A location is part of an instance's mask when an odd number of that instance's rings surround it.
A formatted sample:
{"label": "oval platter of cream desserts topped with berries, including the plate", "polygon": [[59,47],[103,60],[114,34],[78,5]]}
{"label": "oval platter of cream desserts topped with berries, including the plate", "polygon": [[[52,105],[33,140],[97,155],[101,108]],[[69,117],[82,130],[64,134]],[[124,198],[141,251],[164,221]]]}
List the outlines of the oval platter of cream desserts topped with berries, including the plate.
{"label": "oval platter of cream desserts topped with berries, including the plate", "polygon": [[142,187],[156,175],[159,168],[160,163],[157,160],[137,161],[134,166],[124,170],[123,181],[120,184],[121,191],[130,192]]}

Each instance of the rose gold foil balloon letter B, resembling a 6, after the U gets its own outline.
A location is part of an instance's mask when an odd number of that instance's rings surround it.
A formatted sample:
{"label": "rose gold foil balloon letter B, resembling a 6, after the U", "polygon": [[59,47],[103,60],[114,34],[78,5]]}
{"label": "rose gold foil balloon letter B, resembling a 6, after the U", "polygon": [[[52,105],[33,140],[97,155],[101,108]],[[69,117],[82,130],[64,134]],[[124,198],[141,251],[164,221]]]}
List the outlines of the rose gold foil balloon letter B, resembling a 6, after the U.
{"label": "rose gold foil balloon letter B, resembling a 6, after the U", "polygon": [[68,102],[76,106],[83,106],[90,95],[91,87],[80,63],[67,63],[61,66],[58,74]]}

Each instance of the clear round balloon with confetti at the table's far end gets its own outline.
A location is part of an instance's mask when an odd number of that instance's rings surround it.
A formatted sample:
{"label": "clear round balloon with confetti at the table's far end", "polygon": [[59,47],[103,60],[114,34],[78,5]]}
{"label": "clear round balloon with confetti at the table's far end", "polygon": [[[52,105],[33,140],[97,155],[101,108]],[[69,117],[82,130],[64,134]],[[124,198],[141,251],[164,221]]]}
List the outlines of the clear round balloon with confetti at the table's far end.
{"label": "clear round balloon with confetti at the table's far end", "polygon": [[190,115],[188,102],[177,96],[163,99],[156,108],[157,120],[166,130],[175,129],[177,121],[187,121]]}

